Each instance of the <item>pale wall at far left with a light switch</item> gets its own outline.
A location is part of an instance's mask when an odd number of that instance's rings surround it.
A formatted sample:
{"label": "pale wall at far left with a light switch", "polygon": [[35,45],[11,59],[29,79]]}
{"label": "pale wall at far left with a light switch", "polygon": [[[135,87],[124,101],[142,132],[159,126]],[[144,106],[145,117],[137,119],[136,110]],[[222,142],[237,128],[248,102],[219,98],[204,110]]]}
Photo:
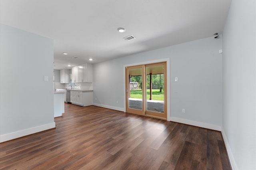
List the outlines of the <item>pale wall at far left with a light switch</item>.
{"label": "pale wall at far left with a light switch", "polygon": [[53,40],[1,24],[0,142],[54,128],[53,92]]}

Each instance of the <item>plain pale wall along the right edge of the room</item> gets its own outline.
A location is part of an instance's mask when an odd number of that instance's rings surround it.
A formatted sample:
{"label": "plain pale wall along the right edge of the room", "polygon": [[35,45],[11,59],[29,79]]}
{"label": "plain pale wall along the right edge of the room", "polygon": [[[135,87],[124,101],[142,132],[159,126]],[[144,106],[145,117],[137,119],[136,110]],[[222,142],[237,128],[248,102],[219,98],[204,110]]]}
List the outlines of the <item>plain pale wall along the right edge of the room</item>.
{"label": "plain pale wall along the right edge of the room", "polygon": [[234,170],[256,169],[256,1],[232,0],[223,31],[222,134]]}

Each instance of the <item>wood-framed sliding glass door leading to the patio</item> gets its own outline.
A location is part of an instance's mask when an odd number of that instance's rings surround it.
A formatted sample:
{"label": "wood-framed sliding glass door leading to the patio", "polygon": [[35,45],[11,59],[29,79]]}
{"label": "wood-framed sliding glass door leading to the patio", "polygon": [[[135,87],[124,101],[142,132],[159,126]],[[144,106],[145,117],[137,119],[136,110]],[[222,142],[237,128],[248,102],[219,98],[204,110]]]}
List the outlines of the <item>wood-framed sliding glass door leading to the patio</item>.
{"label": "wood-framed sliding glass door leading to the patio", "polygon": [[167,119],[166,62],[126,67],[126,112]]}

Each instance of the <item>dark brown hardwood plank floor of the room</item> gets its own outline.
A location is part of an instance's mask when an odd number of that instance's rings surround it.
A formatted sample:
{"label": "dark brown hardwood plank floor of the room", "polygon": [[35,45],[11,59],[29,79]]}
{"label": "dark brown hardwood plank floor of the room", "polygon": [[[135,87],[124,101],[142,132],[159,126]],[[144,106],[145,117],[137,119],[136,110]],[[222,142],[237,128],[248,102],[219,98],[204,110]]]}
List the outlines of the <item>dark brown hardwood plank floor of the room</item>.
{"label": "dark brown hardwood plank floor of the room", "polygon": [[65,104],[56,129],[0,144],[8,170],[230,170],[218,131]]}

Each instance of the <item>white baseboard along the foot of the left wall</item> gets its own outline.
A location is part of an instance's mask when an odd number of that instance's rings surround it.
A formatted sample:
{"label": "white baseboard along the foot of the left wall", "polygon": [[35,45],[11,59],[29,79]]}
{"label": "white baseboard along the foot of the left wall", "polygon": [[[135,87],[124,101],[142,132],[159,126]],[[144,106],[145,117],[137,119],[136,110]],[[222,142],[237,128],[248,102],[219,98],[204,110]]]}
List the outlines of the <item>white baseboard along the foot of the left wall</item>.
{"label": "white baseboard along the foot of the left wall", "polygon": [[47,130],[47,129],[50,129],[50,128],[55,128],[55,122],[49,123],[49,124],[46,124],[46,125],[41,125],[41,126],[38,126],[38,127],[28,128],[28,129],[25,129],[25,130],[20,130],[20,131],[17,131],[17,132],[3,134],[3,135],[0,136],[0,142],[5,142],[5,141],[12,140],[12,139],[15,139],[15,138],[20,138],[22,136],[26,136],[26,135],[29,135],[29,134],[41,132],[41,131],[44,131],[44,130]]}

